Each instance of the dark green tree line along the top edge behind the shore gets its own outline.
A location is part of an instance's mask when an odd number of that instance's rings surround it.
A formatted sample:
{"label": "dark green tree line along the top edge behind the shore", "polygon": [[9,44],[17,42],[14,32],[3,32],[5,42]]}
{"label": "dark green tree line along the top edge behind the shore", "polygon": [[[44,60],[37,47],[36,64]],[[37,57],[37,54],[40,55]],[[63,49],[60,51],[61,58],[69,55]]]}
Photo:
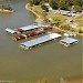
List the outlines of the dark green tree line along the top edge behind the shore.
{"label": "dark green tree line along the top edge behind the shore", "polygon": [[83,0],[30,0],[29,2],[38,6],[44,1],[49,2],[54,10],[60,9],[75,12],[81,12],[83,10]]}

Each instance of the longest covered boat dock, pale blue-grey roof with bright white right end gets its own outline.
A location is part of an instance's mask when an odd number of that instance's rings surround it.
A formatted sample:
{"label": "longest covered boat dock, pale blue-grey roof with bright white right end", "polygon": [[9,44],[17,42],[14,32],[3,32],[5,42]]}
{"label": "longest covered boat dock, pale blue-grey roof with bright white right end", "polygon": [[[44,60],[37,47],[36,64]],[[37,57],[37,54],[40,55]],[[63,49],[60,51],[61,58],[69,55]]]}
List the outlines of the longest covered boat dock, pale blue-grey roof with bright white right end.
{"label": "longest covered boat dock, pale blue-grey roof with bright white right end", "polygon": [[32,46],[42,44],[44,42],[48,42],[48,41],[51,41],[51,40],[54,40],[54,39],[58,39],[58,38],[61,38],[61,37],[62,35],[58,34],[58,33],[49,33],[48,35],[23,42],[23,43],[20,44],[20,46],[23,48],[23,49],[30,49]]}

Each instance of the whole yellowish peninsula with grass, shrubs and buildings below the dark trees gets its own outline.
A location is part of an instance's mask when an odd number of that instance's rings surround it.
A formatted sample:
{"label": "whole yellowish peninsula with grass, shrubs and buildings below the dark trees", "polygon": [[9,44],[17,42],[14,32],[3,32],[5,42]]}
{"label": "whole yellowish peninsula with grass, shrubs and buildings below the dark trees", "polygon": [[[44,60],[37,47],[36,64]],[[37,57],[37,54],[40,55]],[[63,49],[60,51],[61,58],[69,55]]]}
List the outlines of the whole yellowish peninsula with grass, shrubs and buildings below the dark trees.
{"label": "whole yellowish peninsula with grass, shrubs and buildings below the dark trees", "polygon": [[70,10],[62,6],[61,8],[55,8],[55,6],[53,6],[55,2],[52,1],[54,0],[45,2],[30,0],[29,3],[25,4],[25,9],[37,15],[35,22],[45,22],[63,32],[72,31],[83,37],[82,9],[80,10],[75,8],[75,6],[71,6]]}

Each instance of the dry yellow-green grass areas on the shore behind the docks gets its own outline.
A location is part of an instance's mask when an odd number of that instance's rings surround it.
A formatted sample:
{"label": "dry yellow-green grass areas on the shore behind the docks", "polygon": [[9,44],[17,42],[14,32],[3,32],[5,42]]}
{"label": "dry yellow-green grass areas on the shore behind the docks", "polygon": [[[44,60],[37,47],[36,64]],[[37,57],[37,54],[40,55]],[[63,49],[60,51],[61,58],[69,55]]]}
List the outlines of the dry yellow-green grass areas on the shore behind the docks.
{"label": "dry yellow-green grass areas on the shore behind the docks", "polygon": [[[30,9],[30,11],[37,15],[35,22],[43,22],[43,20],[44,20],[43,11],[44,10],[42,10],[41,6],[30,7],[30,4],[28,3],[27,9]],[[64,24],[68,25],[68,24],[70,24],[69,21],[72,20],[71,17],[62,15],[55,11],[49,11],[46,13],[48,13],[46,18],[51,20],[50,24],[55,24],[55,25],[58,24],[58,27],[59,27],[59,24],[60,25],[64,25]],[[71,22],[71,24],[73,27],[75,24],[77,24],[77,27],[73,28],[73,30],[75,33],[79,33],[79,30],[83,30],[83,14],[81,14],[77,18],[73,18],[73,20],[74,20],[74,22]],[[83,33],[81,33],[81,35],[83,35]]]}

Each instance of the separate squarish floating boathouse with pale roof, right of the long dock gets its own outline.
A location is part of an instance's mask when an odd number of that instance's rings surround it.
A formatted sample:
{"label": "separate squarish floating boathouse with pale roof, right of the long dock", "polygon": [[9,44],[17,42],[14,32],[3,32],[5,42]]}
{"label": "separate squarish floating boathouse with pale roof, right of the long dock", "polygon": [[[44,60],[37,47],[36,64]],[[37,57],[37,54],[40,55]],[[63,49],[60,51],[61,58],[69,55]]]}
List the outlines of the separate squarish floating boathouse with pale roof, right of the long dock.
{"label": "separate squarish floating boathouse with pale roof, right of the long dock", "polygon": [[73,38],[65,38],[63,40],[60,40],[60,43],[63,44],[64,46],[70,46],[71,44],[75,44],[79,41],[76,39]]}

